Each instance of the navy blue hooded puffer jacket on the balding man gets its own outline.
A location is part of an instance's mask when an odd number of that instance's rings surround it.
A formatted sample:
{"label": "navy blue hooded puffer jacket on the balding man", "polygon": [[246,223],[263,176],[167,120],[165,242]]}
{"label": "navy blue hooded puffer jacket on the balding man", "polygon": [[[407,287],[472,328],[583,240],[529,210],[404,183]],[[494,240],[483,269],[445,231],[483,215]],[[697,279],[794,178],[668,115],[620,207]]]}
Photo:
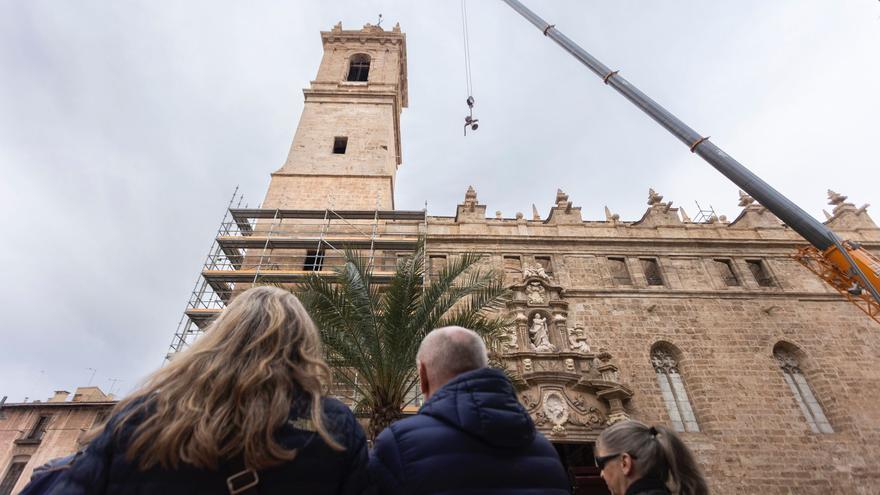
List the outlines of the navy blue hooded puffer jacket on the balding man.
{"label": "navy blue hooded puffer jacket on the balding man", "polygon": [[386,428],[370,472],[383,494],[570,493],[556,449],[490,368],[457,376],[418,415]]}

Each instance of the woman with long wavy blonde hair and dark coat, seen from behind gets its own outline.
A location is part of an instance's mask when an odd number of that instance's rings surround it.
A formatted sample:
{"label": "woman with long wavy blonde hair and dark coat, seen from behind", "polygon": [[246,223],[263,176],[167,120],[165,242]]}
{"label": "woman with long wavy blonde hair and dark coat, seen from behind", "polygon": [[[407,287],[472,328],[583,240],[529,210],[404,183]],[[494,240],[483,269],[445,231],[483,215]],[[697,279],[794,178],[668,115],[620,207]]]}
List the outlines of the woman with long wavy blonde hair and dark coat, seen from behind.
{"label": "woman with long wavy blonde hair and dark coat, seen from behind", "polygon": [[365,492],[364,432],[322,397],[329,373],[296,297],[250,289],[116,406],[51,493]]}

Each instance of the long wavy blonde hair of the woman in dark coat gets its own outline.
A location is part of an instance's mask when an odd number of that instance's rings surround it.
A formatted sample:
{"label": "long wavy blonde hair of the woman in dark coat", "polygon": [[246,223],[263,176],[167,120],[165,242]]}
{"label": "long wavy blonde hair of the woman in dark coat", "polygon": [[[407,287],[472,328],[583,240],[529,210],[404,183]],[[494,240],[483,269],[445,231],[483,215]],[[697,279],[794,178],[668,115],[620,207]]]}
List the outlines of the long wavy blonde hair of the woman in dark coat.
{"label": "long wavy blonde hair of the woman in dark coat", "polygon": [[265,469],[296,456],[275,434],[294,397],[308,394],[314,429],[343,450],[323,421],[329,377],[318,330],[299,300],[277,287],[255,287],[116,406],[115,431],[142,419],[126,453],[143,470],[181,463],[216,469],[237,456],[250,469]]}

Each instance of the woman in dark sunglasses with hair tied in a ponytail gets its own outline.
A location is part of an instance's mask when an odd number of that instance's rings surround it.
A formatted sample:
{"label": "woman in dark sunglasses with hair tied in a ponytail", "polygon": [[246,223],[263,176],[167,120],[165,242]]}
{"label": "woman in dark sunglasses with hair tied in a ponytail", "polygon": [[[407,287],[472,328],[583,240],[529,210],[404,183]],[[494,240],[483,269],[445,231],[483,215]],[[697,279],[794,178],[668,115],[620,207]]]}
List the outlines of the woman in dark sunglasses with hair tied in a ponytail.
{"label": "woman in dark sunglasses with hair tied in a ponytail", "polygon": [[596,466],[613,495],[704,495],[706,480],[672,430],[638,421],[608,427],[596,441]]}

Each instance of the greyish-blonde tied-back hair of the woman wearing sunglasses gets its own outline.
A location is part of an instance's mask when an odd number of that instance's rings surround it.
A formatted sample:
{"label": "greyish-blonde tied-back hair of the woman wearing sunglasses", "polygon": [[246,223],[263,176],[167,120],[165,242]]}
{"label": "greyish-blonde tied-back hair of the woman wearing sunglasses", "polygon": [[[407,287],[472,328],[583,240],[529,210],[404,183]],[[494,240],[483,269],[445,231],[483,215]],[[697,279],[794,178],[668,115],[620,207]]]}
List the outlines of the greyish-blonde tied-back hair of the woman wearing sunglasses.
{"label": "greyish-blonde tied-back hair of the woman wearing sunglasses", "polygon": [[678,495],[706,495],[709,487],[694,455],[681,438],[665,426],[621,421],[599,435],[598,445],[609,453],[628,453],[636,473],[666,482]]}

